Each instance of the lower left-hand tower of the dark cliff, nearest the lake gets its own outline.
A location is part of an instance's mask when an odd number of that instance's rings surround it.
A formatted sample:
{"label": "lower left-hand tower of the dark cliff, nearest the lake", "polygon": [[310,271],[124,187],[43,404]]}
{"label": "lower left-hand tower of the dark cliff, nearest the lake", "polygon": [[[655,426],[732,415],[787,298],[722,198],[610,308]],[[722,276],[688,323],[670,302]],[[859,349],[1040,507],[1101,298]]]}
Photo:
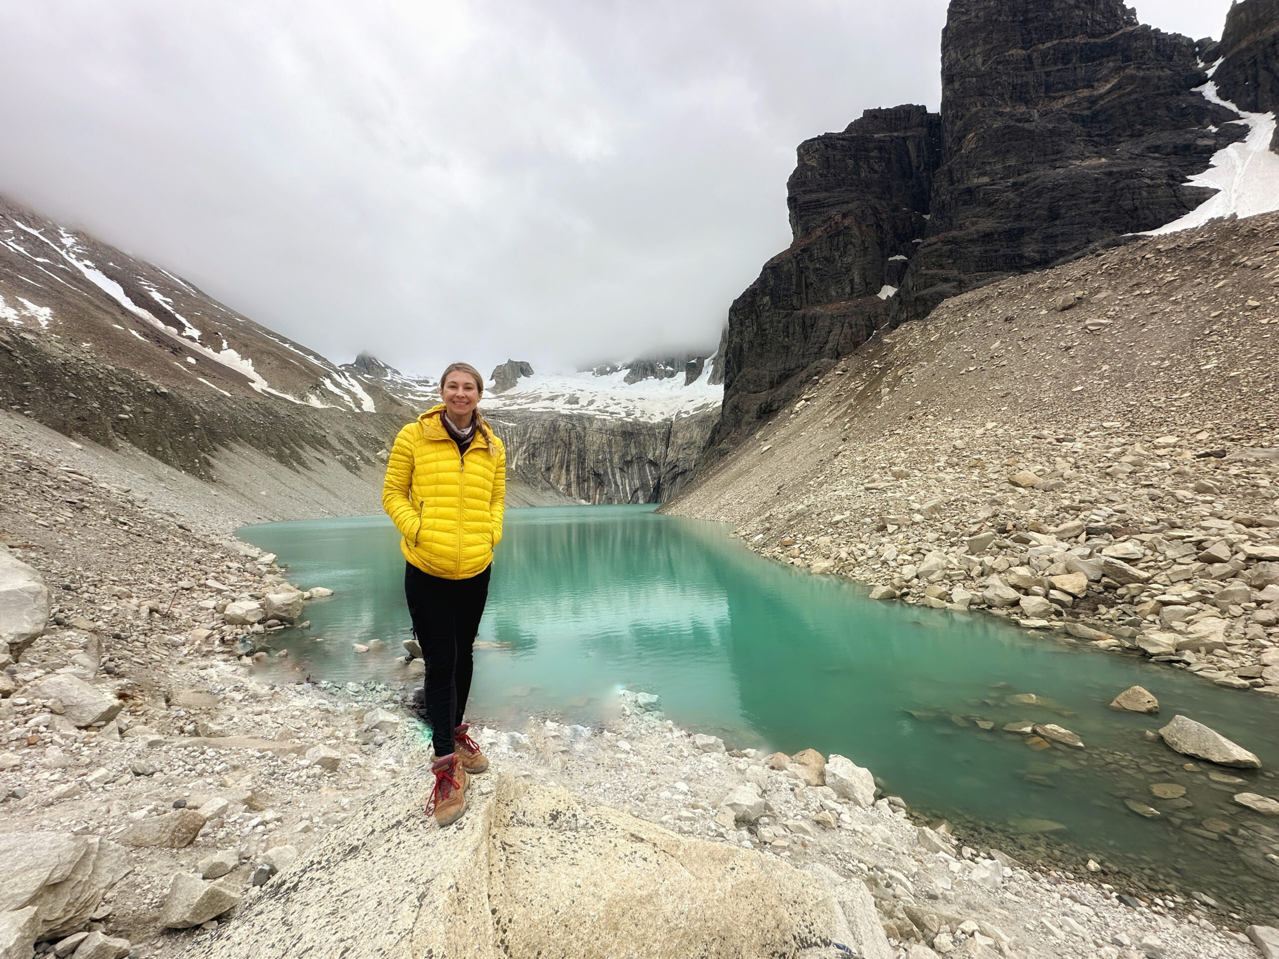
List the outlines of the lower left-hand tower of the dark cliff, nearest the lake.
{"label": "lower left-hand tower of the dark cliff, nearest the lake", "polygon": [[787,184],[794,242],[729,309],[712,459],[886,318],[879,294],[900,280],[927,226],[940,118],[913,105],[867,110],[798,155]]}

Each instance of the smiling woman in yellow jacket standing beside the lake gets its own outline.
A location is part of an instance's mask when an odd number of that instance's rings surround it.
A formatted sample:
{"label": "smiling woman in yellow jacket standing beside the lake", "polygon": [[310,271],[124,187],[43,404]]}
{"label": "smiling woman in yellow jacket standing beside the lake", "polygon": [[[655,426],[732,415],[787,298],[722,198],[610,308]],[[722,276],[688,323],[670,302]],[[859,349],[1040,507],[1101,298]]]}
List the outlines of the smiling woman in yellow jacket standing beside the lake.
{"label": "smiling woman in yellow jacket standing beside the lake", "polygon": [[404,596],[427,662],[423,696],[436,758],[426,811],[441,826],[466,812],[467,776],[489,768],[462,721],[506,508],[506,451],[480,416],[481,395],[480,371],[449,366],[440,377],[444,402],[395,437],[382,487],[382,508],[403,537]]}

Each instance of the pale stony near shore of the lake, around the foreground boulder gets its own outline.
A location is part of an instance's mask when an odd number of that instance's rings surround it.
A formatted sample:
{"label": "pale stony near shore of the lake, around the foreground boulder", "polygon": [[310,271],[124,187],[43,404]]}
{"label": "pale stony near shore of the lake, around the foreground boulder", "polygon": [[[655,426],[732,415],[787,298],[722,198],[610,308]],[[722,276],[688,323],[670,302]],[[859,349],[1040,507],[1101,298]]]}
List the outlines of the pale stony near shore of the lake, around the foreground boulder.
{"label": "pale stony near shore of the lake, around the foreground boulder", "polygon": [[[286,587],[269,557],[184,529],[37,450],[5,453],[8,549],[56,593],[54,624],[15,664],[15,688],[0,706],[5,831],[33,843],[51,834],[148,843],[124,846],[128,872],[84,917],[84,930],[127,939],[150,956],[184,954],[193,936],[234,936],[234,912],[220,932],[160,928],[174,873],[212,876],[225,867],[217,881],[248,904],[261,895],[255,878],[288,876],[353,811],[376,803],[385,784],[413,777],[425,798],[428,753],[400,690],[272,687],[242,662],[234,643],[246,629],[220,623],[216,604]],[[77,533],[59,536],[56,510],[72,499]],[[100,725],[78,726],[65,703],[33,696],[56,675],[124,707]],[[884,935],[899,944],[889,942],[889,955],[911,947],[920,959],[925,941],[973,955],[1255,954],[1242,923],[1200,903],[1149,896],[1126,905],[1119,886],[1036,873],[991,858],[989,848],[966,850],[944,830],[921,831],[899,800],[863,806],[826,791],[811,756],[807,765],[802,756],[793,757],[799,763],[730,756],[652,706],[625,697],[616,717],[596,728],[530,720],[480,735],[504,775],[555,783],[677,834],[747,844],[866,882]],[[825,766],[820,772],[825,777]],[[739,786],[753,786],[766,804],[753,821],[749,809],[746,818],[723,813]],[[177,845],[175,820],[191,820],[189,827],[196,817],[196,835]],[[150,844],[157,836],[160,844]],[[219,857],[221,864],[212,862]]]}

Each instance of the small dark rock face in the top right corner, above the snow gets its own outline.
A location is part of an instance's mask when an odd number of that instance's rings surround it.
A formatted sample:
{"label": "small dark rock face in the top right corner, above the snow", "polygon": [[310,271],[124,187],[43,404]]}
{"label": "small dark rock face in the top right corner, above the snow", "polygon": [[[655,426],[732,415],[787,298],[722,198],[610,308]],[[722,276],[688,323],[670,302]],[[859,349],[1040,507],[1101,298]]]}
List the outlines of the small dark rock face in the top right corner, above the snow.
{"label": "small dark rock face in the top right corner, above the snow", "polygon": [[[1243,0],[1225,15],[1221,42],[1204,51],[1218,93],[1241,110],[1279,110],[1279,0]],[[1270,148],[1279,153],[1279,130]]]}

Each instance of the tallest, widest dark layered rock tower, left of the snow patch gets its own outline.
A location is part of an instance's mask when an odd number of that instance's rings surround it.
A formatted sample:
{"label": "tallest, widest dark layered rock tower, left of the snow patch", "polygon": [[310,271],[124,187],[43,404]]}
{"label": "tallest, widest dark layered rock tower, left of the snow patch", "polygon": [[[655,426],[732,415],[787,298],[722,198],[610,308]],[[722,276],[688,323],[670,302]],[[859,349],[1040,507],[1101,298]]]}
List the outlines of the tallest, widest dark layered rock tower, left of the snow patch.
{"label": "tallest, widest dark layered rock tower, left of the snow patch", "polygon": [[894,325],[1212,196],[1186,179],[1246,129],[1195,92],[1205,83],[1193,41],[1140,26],[1119,0],[954,0],[944,162]]}

